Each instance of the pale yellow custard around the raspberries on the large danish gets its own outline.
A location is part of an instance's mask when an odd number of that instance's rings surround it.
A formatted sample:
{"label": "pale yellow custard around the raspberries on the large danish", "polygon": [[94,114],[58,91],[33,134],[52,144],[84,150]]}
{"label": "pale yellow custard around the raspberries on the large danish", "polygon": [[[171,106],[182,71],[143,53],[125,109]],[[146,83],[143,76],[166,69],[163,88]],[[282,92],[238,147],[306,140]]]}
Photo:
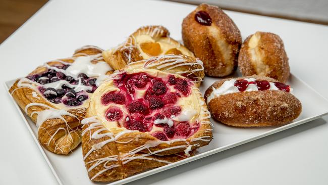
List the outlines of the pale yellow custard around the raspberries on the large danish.
{"label": "pale yellow custard around the raspberries on the large danish", "polygon": [[[128,67],[126,69],[126,72],[127,72],[127,74],[145,72],[150,76],[164,78],[164,79],[167,78],[169,75],[175,75],[178,78],[179,77],[183,78],[182,76],[177,75],[177,74],[161,72],[161,71],[158,71],[155,69],[134,69],[134,68]],[[179,98],[177,105],[179,105],[181,107],[181,114],[178,115],[177,117],[171,118],[170,120],[189,121],[191,124],[195,123],[198,120],[201,106],[198,102],[197,95],[193,88],[194,87],[191,87],[191,94],[188,97]],[[111,103],[110,105],[104,106],[101,104],[101,96],[103,94],[110,92],[110,91],[116,91],[116,90],[120,90],[120,89],[114,85],[113,80],[101,84],[96,89],[96,91],[94,92],[93,96],[90,99],[90,105],[89,105],[90,109],[89,110],[93,110],[93,112],[90,112],[89,114],[97,115],[97,118],[99,118],[101,120],[101,123],[108,129],[116,128],[118,124],[121,125],[123,129],[126,129],[123,127],[124,123],[127,121],[126,116],[128,115],[128,111],[126,110],[125,105],[118,105],[115,103]],[[140,93],[142,93],[143,90],[140,90],[140,91],[141,91]],[[106,110],[113,106],[119,107],[124,114],[123,118],[119,121],[108,121],[104,117]],[[150,116],[154,116],[155,113],[156,113],[156,111],[154,111],[153,114],[151,114]],[[158,120],[156,122],[158,122],[157,124],[159,124],[159,122],[162,122],[162,121],[163,120]],[[167,121],[169,124],[172,123],[171,121],[169,121],[169,118]],[[158,130],[162,130],[162,129],[158,128],[156,126],[153,126],[152,130],[150,132],[155,132]]]}

